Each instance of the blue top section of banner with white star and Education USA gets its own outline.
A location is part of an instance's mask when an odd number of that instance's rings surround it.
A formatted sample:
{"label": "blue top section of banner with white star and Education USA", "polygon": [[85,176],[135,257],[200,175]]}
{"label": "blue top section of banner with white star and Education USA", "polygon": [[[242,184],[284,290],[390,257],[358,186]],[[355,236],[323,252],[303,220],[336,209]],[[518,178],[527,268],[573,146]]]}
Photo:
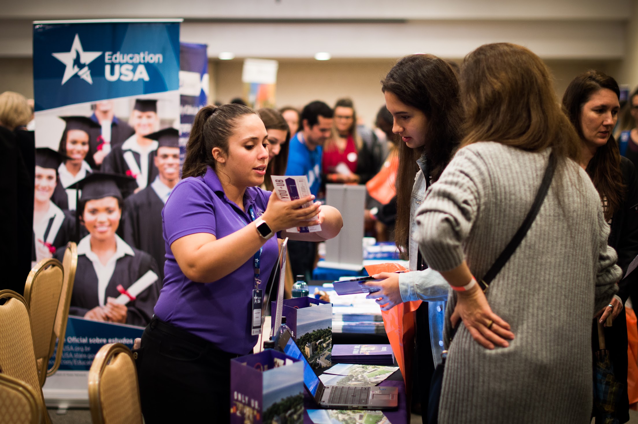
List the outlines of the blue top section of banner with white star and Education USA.
{"label": "blue top section of banner with white star and Education USA", "polygon": [[179,89],[179,20],[36,22],[35,110]]}

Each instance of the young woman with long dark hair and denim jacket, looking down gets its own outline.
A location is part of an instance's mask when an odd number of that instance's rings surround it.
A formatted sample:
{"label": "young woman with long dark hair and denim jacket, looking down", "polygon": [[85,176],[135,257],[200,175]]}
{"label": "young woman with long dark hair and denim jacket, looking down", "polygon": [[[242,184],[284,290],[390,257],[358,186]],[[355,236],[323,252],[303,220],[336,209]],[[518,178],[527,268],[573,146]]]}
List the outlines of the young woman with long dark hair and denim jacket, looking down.
{"label": "young woman with long dark hair and denim jacket, looking down", "polygon": [[[390,69],[382,80],[385,105],[392,117],[392,132],[401,136],[397,170],[397,216],[394,238],[410,260],[410,272],[375,275],[383,310],[410,300],[426,302],[417,310],[417,367],[422,411],[429,397],[434,366],[441,363],[443,317],[447,282],[438,272],[426,269],[417,242],[412,238],[414,216],[431,182],[438,180],[461,141],[462,112],[457,77],[442,59],[429,54],[409,55]],[[416,176],[416,177],[415,177]],[[424,414],[424,422],[427,422]]]}

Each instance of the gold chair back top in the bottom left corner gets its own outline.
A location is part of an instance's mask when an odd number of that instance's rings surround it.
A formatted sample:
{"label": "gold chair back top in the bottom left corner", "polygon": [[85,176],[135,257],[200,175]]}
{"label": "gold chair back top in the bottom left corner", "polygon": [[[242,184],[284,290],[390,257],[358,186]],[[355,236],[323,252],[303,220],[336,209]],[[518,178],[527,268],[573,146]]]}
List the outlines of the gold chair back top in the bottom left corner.
{"label": "gold chair back top in the bottom left corner", "polygon": [[40,424],[38,395],[29,384],[0,373],[0,421],[3,424]]}

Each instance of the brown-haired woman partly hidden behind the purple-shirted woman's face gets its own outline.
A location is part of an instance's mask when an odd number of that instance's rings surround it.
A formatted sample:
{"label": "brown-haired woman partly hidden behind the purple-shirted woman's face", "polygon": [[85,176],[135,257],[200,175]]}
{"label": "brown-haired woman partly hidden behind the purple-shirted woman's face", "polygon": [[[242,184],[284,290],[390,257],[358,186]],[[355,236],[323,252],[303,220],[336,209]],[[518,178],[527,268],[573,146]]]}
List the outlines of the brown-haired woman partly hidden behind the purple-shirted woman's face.
{"label": "brown-haired woman partly hidden behind the purple-shirted woman's face", "polygon": [[268,133],[268,168],[263,177],[263,188],[272,191],[271,175],[286,175],[290,128],[281,113],[271,108],[257,111]]}

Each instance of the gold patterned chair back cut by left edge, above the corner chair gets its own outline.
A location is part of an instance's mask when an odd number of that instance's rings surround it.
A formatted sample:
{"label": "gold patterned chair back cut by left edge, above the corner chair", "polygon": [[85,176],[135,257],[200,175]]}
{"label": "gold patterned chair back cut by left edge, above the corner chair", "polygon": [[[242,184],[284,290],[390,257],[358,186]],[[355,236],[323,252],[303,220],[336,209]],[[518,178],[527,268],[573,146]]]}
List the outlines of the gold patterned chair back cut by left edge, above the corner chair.
{"label": "gold patterned chair back cut by left edge, above the corner chair", "polygon": [[36,393],[41,420],[49,423],[36,368],[29,307],[12,290],[0,290],[0,372],[26,383]]}

